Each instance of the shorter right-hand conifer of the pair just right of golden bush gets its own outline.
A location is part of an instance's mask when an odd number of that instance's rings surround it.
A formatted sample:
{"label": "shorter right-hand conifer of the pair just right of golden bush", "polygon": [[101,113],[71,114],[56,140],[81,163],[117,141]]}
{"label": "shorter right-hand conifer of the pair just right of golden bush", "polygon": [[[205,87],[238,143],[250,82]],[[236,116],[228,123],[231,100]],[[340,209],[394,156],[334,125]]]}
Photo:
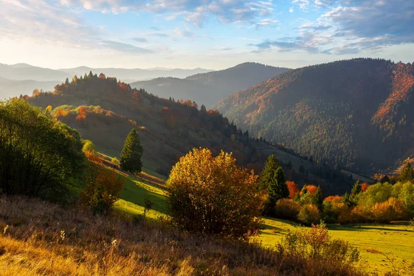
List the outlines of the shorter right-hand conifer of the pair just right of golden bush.
{"label": "shorter right-hand conifer of the pair just right of golden bush", "polygon": [[279,166],[268,184],[268,200],[264,208],[265,212],[268,215],[274,215],[276,202],[287,197],[289,197],[289,189],[286,185],[283,168]]}

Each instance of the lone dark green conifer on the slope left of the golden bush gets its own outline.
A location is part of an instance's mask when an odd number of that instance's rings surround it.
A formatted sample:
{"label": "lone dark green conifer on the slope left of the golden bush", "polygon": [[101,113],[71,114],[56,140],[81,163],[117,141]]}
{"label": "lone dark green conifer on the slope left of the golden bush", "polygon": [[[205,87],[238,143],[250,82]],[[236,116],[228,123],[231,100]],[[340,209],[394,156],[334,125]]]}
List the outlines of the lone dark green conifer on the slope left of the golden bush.
{"label": "lone dark green conifer on the slope left of the golden bush", "polygon": [[126,137],[124,148],[121,151],[121,169],[130,173],[139,173],[142,169],[142,145],[135,128]]}

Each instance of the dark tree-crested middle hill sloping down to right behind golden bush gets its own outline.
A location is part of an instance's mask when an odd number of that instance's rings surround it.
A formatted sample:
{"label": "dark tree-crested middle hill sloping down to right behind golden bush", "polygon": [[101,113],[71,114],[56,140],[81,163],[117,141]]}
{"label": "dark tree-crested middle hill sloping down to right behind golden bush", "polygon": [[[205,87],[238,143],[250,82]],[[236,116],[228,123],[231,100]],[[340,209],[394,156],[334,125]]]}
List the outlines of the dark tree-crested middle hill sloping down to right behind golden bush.
{"label": "dark tree-crested middle hill sloping down to right behind golden bush", "polygon": [[215,154],[233,152],[237,164],[256,172],[268,155],[275,154],[286,167],[287,179],[299,185],[319,184],[326,195],[344,193],[357,178],[303,159],[283,146],[252,139],[215,110],[198,110],[191,101],[161,99],[146,90],[131,89],[116,78],[90,75],[74,79],[28,101],[42,108],[51,106],[52,115],[77,128],[84,139],[92,140],[99,151],[110,156],[119,156],[128,132],[137,128],[144,146],[144,170],[164,176],[179,157],[203,146]]}

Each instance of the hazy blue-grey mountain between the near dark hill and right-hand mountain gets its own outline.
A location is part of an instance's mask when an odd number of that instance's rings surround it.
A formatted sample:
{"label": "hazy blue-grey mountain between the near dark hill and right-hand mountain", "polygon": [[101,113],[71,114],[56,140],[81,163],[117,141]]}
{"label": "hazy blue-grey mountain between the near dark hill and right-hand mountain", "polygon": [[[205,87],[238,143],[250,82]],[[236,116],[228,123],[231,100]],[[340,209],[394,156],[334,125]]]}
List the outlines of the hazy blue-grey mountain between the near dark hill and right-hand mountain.
{"label": "hazy blue-grey mountain between the near dark hill and right-hand mountain", "polygon": [[131,86],[145,88],[159,97],[191,99],[208,107],[237,90],[248,88],[287,70],[289,69],[250,62],[226,70],[193,75],[186,79],[158,78],[137,81],[131,83]]}

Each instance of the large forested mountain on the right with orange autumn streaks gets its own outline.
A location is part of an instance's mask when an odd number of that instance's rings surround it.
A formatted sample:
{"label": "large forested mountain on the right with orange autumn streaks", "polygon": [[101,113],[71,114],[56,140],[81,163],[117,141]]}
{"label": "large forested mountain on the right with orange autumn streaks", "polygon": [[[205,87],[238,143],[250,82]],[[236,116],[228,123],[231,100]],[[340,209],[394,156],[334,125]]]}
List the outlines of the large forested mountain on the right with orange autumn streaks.
{"label": "large forested mountain on the right with orange autumn streaks", "polygon": [[414,66],[352,59],[285,72],[215,108],[319,163],[366,173],[413,154]]}

